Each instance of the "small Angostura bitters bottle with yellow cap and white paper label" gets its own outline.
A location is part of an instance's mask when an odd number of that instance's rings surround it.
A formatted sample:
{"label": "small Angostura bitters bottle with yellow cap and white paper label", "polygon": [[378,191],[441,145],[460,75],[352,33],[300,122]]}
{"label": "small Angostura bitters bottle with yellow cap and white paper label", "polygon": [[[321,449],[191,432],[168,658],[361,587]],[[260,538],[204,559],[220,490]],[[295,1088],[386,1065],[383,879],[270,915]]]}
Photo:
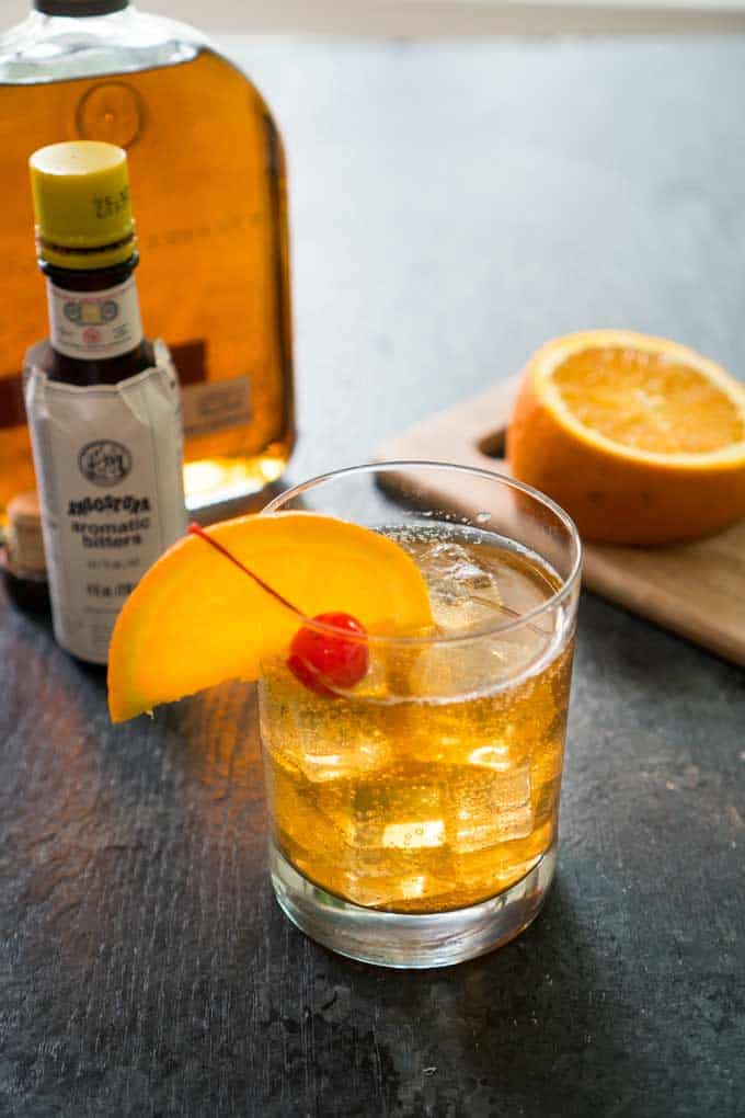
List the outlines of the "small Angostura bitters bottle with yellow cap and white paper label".
{"label": "small Angostura bitters bottle with yellow cap and white paper label", "polygon": [[179,389],[142,331],[126,153],[93,141],[30,160],[49,338],[26,357],[55,636],[104,664],[116,616],[185,531]]}

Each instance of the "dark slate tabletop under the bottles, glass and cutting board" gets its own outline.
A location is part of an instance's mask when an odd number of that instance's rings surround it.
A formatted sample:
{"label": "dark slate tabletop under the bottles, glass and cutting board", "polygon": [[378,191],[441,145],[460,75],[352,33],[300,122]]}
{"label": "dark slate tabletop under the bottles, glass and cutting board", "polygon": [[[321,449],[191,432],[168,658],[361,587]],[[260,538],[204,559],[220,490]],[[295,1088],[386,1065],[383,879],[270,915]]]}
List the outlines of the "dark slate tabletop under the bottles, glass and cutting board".
{"label": "dark slate tabletop under the bottles, glass and cutting board", "polygon": [[[292,171],[289,480],[618,324],[745,371],[745,42],[238,40]],[[742,1115],[745,676],[586,596],[558,877],[442,972],[265,866],[250,689],[108,724],[0,603],[0,1114]]]}

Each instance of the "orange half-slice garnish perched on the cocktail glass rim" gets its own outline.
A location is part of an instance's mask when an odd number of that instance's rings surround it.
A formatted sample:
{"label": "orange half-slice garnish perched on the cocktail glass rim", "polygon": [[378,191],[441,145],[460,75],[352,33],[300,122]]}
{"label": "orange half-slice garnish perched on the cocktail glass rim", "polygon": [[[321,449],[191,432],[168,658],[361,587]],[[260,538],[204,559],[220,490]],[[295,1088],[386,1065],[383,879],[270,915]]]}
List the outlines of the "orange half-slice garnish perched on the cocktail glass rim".
{"label": "orange half-slice garnish perched on the cocktail glass rim", "polygon": [[[432,624],[419,568],[378,532],[309,512],[239,517],[207,531],[306,617],[344,610],[369,633]],[[117,618],[108,659],[112,720],[226,680],[258,679],[300,624],[207,541],[179,540]]]}

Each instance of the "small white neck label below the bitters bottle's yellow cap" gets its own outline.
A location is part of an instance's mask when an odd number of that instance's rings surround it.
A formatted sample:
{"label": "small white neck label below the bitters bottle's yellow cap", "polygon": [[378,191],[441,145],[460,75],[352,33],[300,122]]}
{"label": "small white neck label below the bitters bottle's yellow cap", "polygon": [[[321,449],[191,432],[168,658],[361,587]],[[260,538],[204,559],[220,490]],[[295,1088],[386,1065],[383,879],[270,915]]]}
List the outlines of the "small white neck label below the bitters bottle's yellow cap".
{"label": "small white neck label below the bitters bottle's yellow cap", "polygon": [[106,291],[65,291],[47,280],[49,341],[58,353],[99,361],[120,357],[143,338],[134,276]]}

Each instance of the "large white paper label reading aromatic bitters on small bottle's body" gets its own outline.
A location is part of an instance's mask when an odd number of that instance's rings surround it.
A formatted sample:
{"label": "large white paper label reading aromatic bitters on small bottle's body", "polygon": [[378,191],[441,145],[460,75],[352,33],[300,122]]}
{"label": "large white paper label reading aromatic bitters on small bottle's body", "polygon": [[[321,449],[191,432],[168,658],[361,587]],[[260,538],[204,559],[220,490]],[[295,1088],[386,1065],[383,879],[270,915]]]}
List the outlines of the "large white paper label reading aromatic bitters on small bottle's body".
{"label": "large white paper label reading aromatic bitters on small bottle's body", "polygon": [[156,353],[156,368],[118,385],[26,375],[55,636],[93,663],[106,663],[125,599],[187,529],[179,388],[168,350]]}

